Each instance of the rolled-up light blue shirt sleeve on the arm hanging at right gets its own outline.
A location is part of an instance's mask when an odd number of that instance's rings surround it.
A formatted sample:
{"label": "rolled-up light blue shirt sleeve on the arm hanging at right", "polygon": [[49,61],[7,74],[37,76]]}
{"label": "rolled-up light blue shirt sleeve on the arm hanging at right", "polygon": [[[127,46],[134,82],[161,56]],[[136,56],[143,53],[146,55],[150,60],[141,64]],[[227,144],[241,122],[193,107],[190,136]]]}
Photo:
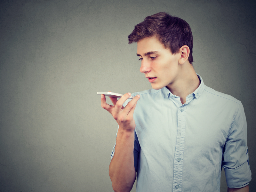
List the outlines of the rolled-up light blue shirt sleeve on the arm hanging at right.
{"label": "rolled-up light blue shirt sleeve on the arm hanging at right", "polygon": [[244,108],[240,101],[228,130],[222,167],[229,188],[245,187],[252,179],[247,148],[247,124]]}

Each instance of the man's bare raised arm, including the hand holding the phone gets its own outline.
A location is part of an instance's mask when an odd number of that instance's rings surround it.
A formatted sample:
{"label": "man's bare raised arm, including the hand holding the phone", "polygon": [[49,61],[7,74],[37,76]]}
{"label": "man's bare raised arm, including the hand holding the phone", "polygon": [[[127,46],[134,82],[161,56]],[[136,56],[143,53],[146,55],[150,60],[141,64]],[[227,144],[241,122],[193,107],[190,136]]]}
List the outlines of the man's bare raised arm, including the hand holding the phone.
{"label": "man's bare raised arm, including the hand holding the phone", "polygon": [[101,107],[106,109],[119,125],[116,136],[115,155],[109,165],[109,176],[115,192],[131,191],[136,179],[133,159],[135,129],[133,112],[140,96],[135,96],[124,108],[123,104],[130,96],[131,93],[126,93],[119,100],[110,97],[113,103],[113,106],[110,106],[106,103],[105,96],[101,95]]}

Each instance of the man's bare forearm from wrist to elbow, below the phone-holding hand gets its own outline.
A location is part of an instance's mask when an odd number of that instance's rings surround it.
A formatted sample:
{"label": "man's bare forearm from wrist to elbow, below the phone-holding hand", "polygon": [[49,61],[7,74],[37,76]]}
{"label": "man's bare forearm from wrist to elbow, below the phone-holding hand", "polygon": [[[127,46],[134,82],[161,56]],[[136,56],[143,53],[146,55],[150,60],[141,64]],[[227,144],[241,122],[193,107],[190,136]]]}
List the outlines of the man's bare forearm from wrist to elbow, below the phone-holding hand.
{"label": "man's bare forearm from wrist to elbow, below the phone-holding hand", "polygon": [[109,176],[114,191],[130,191],[136,179],[133,159],[134,131],[122,131],[116,136],[115,154],[109,165]]}

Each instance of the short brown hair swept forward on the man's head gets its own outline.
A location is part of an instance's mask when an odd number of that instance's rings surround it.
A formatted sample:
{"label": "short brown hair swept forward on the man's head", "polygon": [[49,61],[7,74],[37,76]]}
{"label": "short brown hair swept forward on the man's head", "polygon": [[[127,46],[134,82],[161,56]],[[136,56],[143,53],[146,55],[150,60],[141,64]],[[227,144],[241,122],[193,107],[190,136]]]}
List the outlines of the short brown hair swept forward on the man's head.
{"label": "short brown hair swept forward on the man's head", "polygon": [[178,53],[183,45],[187,45],[190,50],[188,61],[192,64],[193,36],[186,21],[173,17],[166,12],[148,16],[134,27],[134,30],[128,36],[129,44],[152,36],[156,36],[159,42],[166,49],[170,49],[173,54]]}

